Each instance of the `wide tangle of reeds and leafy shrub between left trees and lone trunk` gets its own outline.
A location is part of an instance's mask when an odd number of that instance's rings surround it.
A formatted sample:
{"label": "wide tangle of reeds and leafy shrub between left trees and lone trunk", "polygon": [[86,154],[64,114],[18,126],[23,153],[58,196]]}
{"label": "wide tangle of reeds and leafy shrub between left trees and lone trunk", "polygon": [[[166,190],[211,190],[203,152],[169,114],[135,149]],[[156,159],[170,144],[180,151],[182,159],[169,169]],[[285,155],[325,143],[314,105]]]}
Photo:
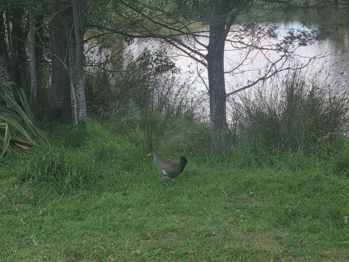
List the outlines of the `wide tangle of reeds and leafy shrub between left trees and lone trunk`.
{"label": "wide tangle of reeds and leafy shrub between left trees and lone trunk", "polygon": [[[108,122],[111,131],[131,132],[142,152],[183,152],[209,144],[201,110],[205,99],[195,93],[195,80],[179,77],[178,68],[164,54],[144,50],[113,73],[110,68],[100,70],[94,76],[103,75],[103,81],[108,81],[109,101],[90,101],[90,112]],[[104,88],[97,78],[89,79],[90,86],[92,82],[90,90]]]}

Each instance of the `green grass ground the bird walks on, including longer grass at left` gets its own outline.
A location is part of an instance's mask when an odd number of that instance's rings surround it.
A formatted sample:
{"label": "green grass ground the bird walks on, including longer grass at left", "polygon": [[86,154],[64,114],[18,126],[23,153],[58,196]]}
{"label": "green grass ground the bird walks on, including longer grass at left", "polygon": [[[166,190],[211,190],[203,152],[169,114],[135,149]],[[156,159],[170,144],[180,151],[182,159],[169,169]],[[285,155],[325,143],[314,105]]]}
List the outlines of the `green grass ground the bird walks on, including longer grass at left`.
{"label": "green grass ground the bird walks on, including longer grass at left", "polygon": [[[325,161],[243,168],[229,156],[188,154],[171,187],[132,137],[95,123],[78,134],[65,128],[51,148],[0,160],[1,261],[349,259],[349,181]],[[52,152],[85,162],[62,164]],[[77,166],[85,183],[50,184],[43,170],[57,165],[47,163]],[[51,173],[67,174],[59,170]]]}

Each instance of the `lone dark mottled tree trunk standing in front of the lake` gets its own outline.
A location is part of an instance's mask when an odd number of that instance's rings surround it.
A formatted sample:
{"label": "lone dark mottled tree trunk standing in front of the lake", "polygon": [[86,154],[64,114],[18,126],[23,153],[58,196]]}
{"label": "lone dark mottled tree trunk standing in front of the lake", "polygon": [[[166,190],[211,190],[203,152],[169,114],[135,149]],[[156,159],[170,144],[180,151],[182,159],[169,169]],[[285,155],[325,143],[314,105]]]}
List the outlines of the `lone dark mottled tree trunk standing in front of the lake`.
{"label": "lone dark mottled tree trunk standing in front of the lake", "polygon": [[[227,0],[212,0],[210,38],[207,48],[207,72],[210,96],[211,139],[215,147],[227,143],[227,108],[224,81],[225,13]],[[223,18],[222,18],[223,17]]]}

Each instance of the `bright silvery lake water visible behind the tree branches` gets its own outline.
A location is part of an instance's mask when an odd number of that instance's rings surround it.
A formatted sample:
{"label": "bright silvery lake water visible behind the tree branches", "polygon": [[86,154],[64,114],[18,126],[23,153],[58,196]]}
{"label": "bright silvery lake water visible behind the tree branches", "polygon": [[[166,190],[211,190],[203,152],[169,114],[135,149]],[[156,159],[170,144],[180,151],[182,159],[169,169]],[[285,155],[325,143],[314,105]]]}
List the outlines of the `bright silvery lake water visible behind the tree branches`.
{"label": "bright silvery lake water visible behind the tree branches", "polygon": [[[349,12],[348,10],[346,12]],[[311,28],[322,27],[324,32],[314,39],[314,43],[308,46],[298,46],[295,49],[296,58],[299,63],[307,63],[310,57],[318,56],[303,70],[309,77],[318,77],[321,82],[326,83],[328,87],[340,88],[343,91],[348,89],[349,82],[349,14],[346,13],[343,19],[337,17],[341,11],[334,10],[317,10],[309,11],[302,10],[292,12],[279,17],[280,24],[278,30],[278,40],[283,39],[290,29],[304,28],[304,24],[310,24]],[[326,24],[336,20],[335,24],[330,26]],[[230,37],[233,37],[230,35]],[[205,44],[208,44],[208,38],[200,39]],[[277,40],[265,39],[266,44],[274,44]],[[197,64],[192,58],[184,55],[172,45],[169,45],[162,39],[148,38],[135,39],[126,51],[131,51],[135,56],[143,51],[144,48],[149,50],[166,50],[169,57],[173,58],[176,66],[180,68],[180,77],[182,79],[194,81],[195,89],[200,92],[206,92],[208,86],[208,77],[206,68],[201,64]],[[232,49],[230,43],[225,45],[225,70],[229,71],[236,63],[239,63],[245,56],[245,52],[237,49]],[[267,58],[273,59],[277,57],[276,52],[269,52],[266,56],[260,52],[251,52],[249,57],[242,67],[232,73],[226,73],[226,92],[232,92],[258,79],[259,75],[265,71],[268,64]],[[266,58],[267,57],[267,58]],[[282,79],[282,74],[278,79]],[[199,77],[200,75],[200,77]],[[270,81],[270,80],[267,80]],[[275,79],[274,79],[275,82]],[[250,88],[250,89],[253,89]],[[250,90],[249,89],[249,90]],[[247,89],[246,89],[247,91]]]}

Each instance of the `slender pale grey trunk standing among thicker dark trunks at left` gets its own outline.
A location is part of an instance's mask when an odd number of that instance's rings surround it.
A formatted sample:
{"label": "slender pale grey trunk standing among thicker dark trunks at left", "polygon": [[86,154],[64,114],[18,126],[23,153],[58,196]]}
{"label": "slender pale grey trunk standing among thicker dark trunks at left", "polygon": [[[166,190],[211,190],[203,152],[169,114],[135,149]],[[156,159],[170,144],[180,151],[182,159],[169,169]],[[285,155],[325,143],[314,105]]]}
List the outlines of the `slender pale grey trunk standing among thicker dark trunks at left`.
{"label": "slender pale grey trunk standing among thicker dark trunks at left", "polygon": [[35,28],[33,8],[29,8],[29,27],[30,27],[30,71],[31,71],[31,92],[30,108],[34,112],[36,104],[36,55],[35,55]]}

